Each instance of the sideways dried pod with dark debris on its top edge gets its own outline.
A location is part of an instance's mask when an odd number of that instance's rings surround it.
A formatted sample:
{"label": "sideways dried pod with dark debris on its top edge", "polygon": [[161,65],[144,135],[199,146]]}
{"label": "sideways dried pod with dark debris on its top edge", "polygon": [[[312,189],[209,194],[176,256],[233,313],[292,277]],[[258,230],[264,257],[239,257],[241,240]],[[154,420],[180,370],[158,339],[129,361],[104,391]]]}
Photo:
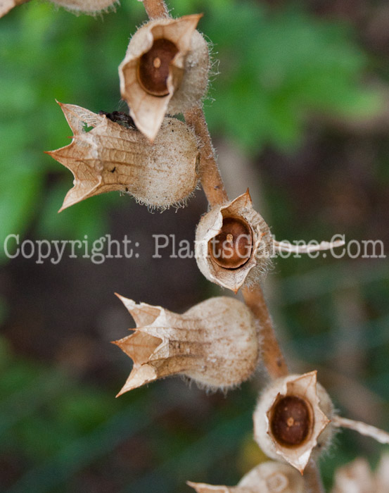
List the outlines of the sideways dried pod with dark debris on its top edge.
{"label": "sideways dried pod with dark debris on its top edge", "polygon": [[[130,120],[114,122],[113,113],[107,118],[81,106],[60,107],[74,132],[72,143],[47,154],[75,177],[60,211],[113,190],[128,192],[147,206],[167,208],[184,203],[196,188],[196,136],[177,118],[165,118],[157,139],[150,144],[129,125]],[[85,125],[92,130],[88,132]]]}

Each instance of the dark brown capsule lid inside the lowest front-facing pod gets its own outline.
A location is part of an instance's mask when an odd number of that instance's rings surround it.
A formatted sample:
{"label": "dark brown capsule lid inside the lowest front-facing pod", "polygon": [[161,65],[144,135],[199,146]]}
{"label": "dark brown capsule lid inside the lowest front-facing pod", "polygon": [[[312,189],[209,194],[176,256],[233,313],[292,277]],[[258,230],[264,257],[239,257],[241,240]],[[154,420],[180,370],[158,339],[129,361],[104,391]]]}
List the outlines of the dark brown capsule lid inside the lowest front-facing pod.
{"label": "dark brown capsule lid inside the lowest front-facing pod", "polygon": [[274,405],[270,420],[272,435],[284,447],[298,447],[312,429],[310,408],[304,399],[286,396]]}

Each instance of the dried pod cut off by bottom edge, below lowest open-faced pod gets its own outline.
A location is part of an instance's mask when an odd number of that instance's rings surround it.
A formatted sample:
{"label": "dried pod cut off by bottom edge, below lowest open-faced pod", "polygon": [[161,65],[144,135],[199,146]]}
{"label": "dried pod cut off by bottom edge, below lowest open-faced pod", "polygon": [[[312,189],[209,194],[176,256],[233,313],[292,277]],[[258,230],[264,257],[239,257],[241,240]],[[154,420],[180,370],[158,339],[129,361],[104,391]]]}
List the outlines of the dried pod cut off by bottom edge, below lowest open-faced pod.
{"label": "dried pod cut off by bottom edge, below lowest open-faced pod", "polygon": [[264,462],[250,470],[237,486],[214,486],[188,482],[197,493],[305,493],[297,470],[279,462]]}

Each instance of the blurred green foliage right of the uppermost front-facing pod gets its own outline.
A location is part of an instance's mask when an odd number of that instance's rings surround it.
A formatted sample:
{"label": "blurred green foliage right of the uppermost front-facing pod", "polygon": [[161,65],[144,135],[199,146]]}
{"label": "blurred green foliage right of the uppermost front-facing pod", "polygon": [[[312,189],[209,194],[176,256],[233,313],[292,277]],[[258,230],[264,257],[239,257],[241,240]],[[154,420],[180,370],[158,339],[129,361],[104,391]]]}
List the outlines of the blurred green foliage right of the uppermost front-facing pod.
{"label": "blurred green foliage right of the uppermost front-facing pod", "polygon": [[215,43],[220,75],[208,122],[248,153],[264,144],[293,150],[312,113],[350,119],[377,113],[381,96],[362,84],[367,58],[346,25],[248,2],[210,9],[204,30]]}

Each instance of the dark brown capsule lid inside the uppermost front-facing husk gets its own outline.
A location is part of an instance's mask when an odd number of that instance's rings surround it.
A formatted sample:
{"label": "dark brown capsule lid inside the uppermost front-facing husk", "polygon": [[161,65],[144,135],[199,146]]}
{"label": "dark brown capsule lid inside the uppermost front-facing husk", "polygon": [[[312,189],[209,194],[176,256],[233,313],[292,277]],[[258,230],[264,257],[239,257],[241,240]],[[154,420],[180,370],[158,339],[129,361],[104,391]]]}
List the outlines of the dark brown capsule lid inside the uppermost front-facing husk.
{"label": "dark brown capsule lid inside the uppermost front-facing husk", "polygon": [[178,53],[177,46],[169,39],[155,39],[153,46],[139,59],[138,80],[148,94],[167,96],[167,77],[170,62]]}

